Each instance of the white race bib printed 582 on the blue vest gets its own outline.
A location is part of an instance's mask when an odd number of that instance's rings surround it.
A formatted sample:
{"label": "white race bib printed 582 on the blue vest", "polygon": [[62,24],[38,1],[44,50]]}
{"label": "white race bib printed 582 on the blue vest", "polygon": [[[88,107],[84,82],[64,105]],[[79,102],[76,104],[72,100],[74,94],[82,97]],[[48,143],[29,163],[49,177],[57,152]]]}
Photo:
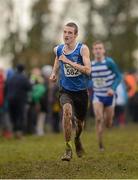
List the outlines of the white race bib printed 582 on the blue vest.
{"label": "white race bib printed 582 on the blue vest", "polygon": [[64,73],[66,77],[77,77],[81,75],[81,72],[79,72],[69,64],[64,64]]}

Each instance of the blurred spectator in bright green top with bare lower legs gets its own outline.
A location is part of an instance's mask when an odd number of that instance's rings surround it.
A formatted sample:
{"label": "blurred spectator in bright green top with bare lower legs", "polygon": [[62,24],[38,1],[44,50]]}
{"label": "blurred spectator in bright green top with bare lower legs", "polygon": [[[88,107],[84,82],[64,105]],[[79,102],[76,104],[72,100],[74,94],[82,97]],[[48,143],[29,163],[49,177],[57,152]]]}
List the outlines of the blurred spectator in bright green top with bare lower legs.
{"label": "blurred spectator in bright green top with bare lower legs", "polygon": [[[36,68],[35,68],[36,70]],[[40,71],[40,70],[39,70]],[[46,91],[44,79],[38,69],[32,71],[31,82],[32,91],[30,93],[30,108],[28,111],[28,130],[30,133],[36,133],[39,136],[44,135],[44,125],[46,117]]]}

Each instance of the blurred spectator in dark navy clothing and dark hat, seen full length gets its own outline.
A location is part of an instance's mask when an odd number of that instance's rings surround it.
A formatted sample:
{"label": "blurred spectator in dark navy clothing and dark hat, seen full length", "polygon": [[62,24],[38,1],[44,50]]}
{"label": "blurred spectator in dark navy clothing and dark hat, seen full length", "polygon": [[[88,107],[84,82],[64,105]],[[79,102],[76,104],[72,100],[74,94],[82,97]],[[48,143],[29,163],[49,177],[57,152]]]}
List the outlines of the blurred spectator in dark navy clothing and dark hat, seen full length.
{"label": "blurred spectator in dark navy clothing and dark hat, seen full length", "polygon": [[18,64],[16,72],[7,80],[6,84],[9,115],[13,125],[13,132],[15,132],[17,138],[21,138],[24,132],[27,93],[31,90],[31,84],[25,76],[24,70],[24,65]]}

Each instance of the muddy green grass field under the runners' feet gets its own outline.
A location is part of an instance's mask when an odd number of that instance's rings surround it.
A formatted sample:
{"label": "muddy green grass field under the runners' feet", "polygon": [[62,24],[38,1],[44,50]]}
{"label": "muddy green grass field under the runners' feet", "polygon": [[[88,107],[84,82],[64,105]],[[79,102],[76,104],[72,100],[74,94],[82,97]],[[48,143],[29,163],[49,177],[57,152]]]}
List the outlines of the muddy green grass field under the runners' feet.
{"label": "muddy green grass field under the runners' feet", "polygon": [[62,134],[27,136],[21,141],[0,138],[0,178],[138,179],[138,125],[106,130],[104,138],[106,149],[101,153],[95,130],[85,131],[85,157],[77,158],[74,153],[71,162],[60,160]]}

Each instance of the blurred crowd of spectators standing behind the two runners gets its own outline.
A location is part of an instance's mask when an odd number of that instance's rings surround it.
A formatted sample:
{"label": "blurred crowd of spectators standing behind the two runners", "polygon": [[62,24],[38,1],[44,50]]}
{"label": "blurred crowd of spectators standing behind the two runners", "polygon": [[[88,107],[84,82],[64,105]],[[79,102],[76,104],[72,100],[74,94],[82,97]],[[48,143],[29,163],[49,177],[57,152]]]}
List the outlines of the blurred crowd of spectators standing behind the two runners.
{"label": "blurred crowd of spectators standing behind the two runners", "polygon": [[[27,73],[25,66],[0,69],[0,135],[22,138],[23,135],[43,136],[47,132],[59,133],[61,107],[58,84],[49,81],[52,66],[33,68]],[[94,122],[89,86],[89,110],[86,125]],[[124,127],[138,123],[138,72],[123,73],[123,81],[116,91],[114,126]]]}

